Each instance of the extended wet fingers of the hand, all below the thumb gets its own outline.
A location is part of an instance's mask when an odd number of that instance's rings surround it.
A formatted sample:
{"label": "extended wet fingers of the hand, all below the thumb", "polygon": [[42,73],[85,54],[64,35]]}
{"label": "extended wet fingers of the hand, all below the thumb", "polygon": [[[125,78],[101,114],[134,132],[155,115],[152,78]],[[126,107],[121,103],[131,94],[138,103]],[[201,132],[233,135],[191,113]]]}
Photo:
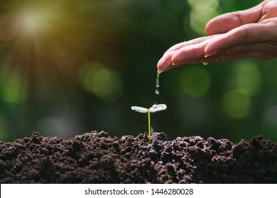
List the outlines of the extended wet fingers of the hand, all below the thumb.
{"label": "extended wet fingers of the hand, all below the thumb", "polygon": [[[158,62],[158,71],[162,72],[176,65],[203,62],[203,59],[204,62],[242,58],[272,59],[273,54],[276,54],[276,42],[268,41],[277,41],[276,30],[277,18],[271,18],[261,23],[241,25],[228,33],[180,43],[165,52]],[[251,52],[261,52],[261,56],[253,57],[249,54]]]}

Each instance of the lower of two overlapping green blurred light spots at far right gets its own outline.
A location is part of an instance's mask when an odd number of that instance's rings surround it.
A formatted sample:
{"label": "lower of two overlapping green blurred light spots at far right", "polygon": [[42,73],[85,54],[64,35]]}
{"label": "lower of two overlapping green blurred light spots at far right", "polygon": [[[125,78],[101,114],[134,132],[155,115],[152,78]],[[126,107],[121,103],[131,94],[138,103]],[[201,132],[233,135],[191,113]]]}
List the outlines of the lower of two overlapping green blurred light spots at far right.
{"label": "lower of two overlapping green blurred light spots at far right", "polygon": [[239,89],[228,91],[222,100],[222,108],[226,115],[241,119],[249,112],[251,100],[248,95],[241,93]]}

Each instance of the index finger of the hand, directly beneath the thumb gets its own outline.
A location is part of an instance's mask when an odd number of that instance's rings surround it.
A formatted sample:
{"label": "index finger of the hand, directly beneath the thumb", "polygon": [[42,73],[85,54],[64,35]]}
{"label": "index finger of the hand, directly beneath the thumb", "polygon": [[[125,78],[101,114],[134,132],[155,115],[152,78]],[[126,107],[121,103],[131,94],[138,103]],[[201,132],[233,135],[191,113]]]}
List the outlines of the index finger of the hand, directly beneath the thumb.
{"label": "index finger of the hand, directly beneath the thumb", "polygon": [[274,23],[242,25],[210,40],[205,47],[205,54],[214,54],[214,52],[224,51],[235,45],[276,40],[276,28]]}

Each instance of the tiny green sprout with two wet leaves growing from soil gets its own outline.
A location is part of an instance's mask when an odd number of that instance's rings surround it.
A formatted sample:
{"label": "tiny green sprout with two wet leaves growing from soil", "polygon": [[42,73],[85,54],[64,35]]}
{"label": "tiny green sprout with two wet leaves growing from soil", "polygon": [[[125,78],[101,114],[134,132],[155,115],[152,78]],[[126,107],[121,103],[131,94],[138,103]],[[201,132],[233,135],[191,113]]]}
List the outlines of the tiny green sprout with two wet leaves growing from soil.
{"label": "tiny green sprout with two wet leaves growing from soil", "polygon": [[148,109],[146,109],[144,107],[138,107],[138,106],[131,107],[131,110],[134,110],[136,112],[147,113],[147,115],[148,115],[148,137],[149,137],[149,141],[151,141],[151,118],[150,118],[150,113],[166,110],[166,108],[167,107],[166,107],[165,104],[157,105],[156,103]]}

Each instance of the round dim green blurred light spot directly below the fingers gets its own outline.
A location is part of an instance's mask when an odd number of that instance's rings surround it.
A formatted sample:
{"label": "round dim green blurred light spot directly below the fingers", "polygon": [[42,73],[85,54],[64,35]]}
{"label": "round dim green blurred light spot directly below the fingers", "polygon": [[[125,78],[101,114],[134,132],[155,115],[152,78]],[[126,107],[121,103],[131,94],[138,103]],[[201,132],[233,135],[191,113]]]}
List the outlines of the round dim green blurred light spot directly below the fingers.
{"label": "round dim green blurred light spot directly below the fingers", "polygon": [[210,88],[210,74],[200,67],[187,67],[180,73],[180,88],[192,97],[202,96]]}

